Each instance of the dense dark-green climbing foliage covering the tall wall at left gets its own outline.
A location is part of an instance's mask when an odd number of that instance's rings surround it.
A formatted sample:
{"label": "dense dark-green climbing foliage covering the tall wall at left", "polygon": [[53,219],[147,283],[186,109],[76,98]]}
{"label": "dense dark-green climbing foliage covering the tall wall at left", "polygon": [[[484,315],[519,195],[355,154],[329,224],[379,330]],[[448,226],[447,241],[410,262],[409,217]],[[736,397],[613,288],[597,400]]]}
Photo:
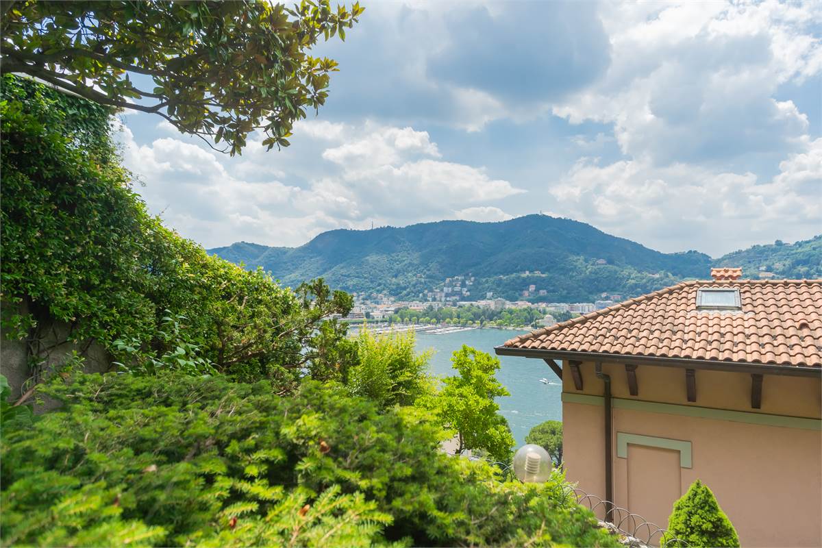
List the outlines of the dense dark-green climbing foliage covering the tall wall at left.
{"label": "dense dark-green climbing foliage covering the tall wall at left", "polygon": [[351,297],[322,280],[282,288],[164,228],[131,190],[106,109],[4,76],[0,116],[2,321],[34,366],[55,323],[140,373],[222,371],[288,390],[350,365],[346,326],[328,318]]}

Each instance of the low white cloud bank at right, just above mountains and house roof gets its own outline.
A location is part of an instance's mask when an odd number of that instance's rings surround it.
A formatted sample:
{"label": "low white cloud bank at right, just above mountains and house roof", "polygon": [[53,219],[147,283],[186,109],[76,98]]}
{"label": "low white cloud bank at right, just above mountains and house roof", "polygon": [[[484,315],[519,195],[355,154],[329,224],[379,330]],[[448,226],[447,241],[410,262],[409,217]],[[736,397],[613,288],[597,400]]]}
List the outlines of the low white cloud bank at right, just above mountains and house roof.
{"label": "low white cloud bank at right, just above mountains and house roof", "polygon": [[766,182],[686,163],[580,159],[550,191],[555,209],[608,233],[663,251],[698,247],[720,255],[774,235],[792,240],[819,231],[822,139],[805,149]]}

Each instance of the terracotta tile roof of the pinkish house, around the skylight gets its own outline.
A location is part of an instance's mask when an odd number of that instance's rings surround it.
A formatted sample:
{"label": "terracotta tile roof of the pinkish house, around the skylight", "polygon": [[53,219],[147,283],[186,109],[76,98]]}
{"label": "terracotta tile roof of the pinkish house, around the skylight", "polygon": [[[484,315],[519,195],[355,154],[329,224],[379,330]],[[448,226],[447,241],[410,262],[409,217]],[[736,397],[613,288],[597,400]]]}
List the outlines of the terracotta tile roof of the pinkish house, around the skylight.
{"label": "terracotta tile roof of the pinkish house, around the skylight", "polygon": [[[700,288],[738,288],[741,311],[697,310]],[[822,280],[683,282],[520,335],[505,346],[822,366]]]}

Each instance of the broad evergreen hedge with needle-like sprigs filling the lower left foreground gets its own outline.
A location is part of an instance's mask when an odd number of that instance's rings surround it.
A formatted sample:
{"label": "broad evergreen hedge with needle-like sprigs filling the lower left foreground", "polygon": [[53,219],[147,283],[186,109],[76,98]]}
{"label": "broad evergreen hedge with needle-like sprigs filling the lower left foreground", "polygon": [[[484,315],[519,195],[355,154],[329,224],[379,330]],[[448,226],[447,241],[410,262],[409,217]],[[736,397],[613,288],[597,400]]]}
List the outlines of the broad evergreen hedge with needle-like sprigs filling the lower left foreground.
{"label": "broad evergreen hedge with needle-like sprigs filling the lower left foreground", "polygon": [[75,374],[2,444],[2,544],[617,546],[546,484],[438,450],[415,408],[306,381]]}

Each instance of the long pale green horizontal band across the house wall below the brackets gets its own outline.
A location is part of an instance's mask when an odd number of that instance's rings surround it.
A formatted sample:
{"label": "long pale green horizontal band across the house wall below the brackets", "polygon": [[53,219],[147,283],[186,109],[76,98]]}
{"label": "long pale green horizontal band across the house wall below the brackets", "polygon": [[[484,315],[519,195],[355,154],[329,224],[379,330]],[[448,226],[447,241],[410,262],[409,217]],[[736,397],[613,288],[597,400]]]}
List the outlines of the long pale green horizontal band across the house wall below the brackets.
{"label": "long pale green horizontal band across the house wall below the brackets", "polygon": [[[584,403],[586,405],[604,405],[602,396],[573,394],[570,392],[562,393],[562,401],[567,403]],[[760,426],[780,426],[783,428],[822,431],[822,420],[806,417],[786,417],[784,415],[769,415],[768,413],[700,408],[695,405],[643,402],[636,399],[623,398],[613,398],[612,403],[614,408],[629,409],[631,411],[667,413],[668,415],[713,419],[714,421],[744,422],[746,424]]]}

